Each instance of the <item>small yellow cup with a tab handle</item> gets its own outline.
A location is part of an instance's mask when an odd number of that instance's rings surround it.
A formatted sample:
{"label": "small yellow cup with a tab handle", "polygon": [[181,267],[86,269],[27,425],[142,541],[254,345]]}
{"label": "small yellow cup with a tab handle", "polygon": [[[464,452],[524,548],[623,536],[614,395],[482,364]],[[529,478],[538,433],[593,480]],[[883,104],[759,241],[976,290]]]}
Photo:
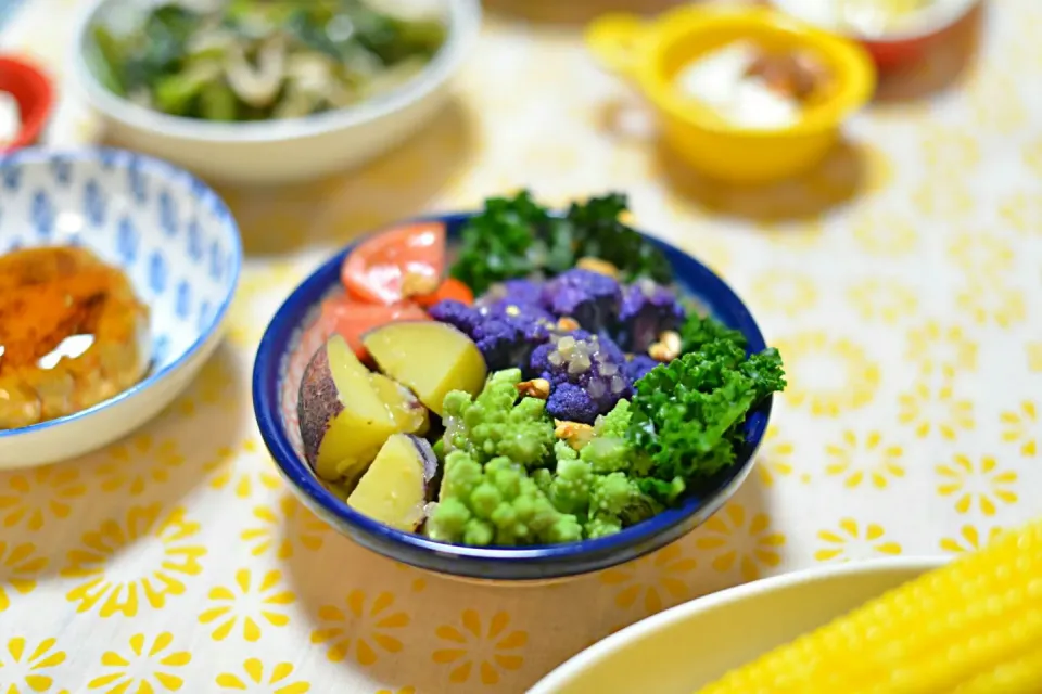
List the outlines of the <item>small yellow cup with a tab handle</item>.
{"label": "small yellow cup with a tab handle", "polygon": [[[744,39],[768,50],[811,52],[834,76],[834,88],[796,125],[755,130],[728,125],[674,87],[692,60]],[[609,14],[589,25],[586,42],[650,101],[670,149],[707,176],[732,183],[766,183],[813,168],[839,139],[847,116],[875,89],[872,59],[857,43],[765,8],[689,5],[648,22]]]}

